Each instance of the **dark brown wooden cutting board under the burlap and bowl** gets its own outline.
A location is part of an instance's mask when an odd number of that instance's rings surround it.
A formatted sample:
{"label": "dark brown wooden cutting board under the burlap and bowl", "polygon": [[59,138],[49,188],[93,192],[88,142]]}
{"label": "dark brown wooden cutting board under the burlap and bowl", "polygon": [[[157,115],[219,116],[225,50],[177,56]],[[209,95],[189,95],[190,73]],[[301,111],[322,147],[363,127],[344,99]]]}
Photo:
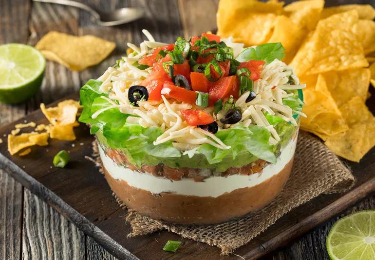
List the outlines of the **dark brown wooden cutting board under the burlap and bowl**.
{"label": "dark brown wooden cutting board under the burlap and bowl", "polygon": [[[375,90],[367,105],[375,112]],[[72,97],[78,99],[78,95]],[[56,104],[56,102],[54,103]],[[54,105],[53,104],[53,105]],[[9,172],[31,192],[38,195],[61,214],[73,221],[83,232],[119,259],[230,259],[220,256],[220,249],[193,240],[183,239],[167,231],[138,238],[127,238],[131,227],[125,221],[127,212],[119,208],[112,192],[94,164],[85,159],[92,154],[89,128],[75,128],[77,140],[50,140],[48,146],[33,147],[24,157],[11,156],[7,151],[6,135],[20,122],[47,123],[40,110],[0,128],[0,168]],[[30,130],[28,130],[30,131]],[[70,151],[71,162],[66,168],[53,167],[52,160],[62,149]],[[307,231],[338,215],[350,205],[375,192],[375,149],[360,163],[345,161],[356,177],[356,186],[345,194],[321,195],[295,208],[264,233],[240,247],[234,253],[245,259],[261,257]],[[167,240],[181,240],[176,253],[162,250]]]}

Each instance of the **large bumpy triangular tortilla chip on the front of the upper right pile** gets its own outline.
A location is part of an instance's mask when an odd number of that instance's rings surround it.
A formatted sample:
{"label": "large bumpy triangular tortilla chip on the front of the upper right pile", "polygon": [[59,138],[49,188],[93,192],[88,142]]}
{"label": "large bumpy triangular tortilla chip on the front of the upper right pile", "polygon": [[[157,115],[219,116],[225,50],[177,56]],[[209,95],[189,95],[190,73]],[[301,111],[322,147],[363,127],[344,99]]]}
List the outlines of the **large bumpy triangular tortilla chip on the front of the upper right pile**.
{"label": "large bumpy triangular tortilla chip on the front of the upper right pile", "polygon": [[357,21],[356,11],[320,20],[314,34],[303,43],[291,62],[297,75],[368,66],[362,44],[351,31]]}

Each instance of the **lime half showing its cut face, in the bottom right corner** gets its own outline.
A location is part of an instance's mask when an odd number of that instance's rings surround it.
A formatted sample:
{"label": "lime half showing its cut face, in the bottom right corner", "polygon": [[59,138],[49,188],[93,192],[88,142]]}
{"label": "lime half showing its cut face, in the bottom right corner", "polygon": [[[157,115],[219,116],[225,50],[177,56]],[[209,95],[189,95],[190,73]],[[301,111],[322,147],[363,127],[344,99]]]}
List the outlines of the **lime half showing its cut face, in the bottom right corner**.
{"label": "lime half showing its cut face, in the bottom right corner", "polygon": [[375,210],[364,210],[338,220],[327,237],[334,260],[375,260]]}

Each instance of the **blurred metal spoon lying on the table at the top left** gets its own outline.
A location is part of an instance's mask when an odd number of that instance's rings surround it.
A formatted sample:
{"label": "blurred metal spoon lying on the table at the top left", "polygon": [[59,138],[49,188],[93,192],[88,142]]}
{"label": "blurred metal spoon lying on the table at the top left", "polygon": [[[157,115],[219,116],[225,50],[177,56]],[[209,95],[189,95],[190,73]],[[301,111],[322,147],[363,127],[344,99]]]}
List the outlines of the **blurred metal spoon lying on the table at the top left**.
{"label": "blurred metal spoon lying on the table at the top left", "polygon": [[96,20],[96,22],[102,26],[113,26],[118,24],[127,23],[133,20],[137,20],[144,15],[144,11],[141,8],[120,8],[111,12],[99,12],[94,10],[92,7],[71,0],[34,0],[35,2],[45,3],[57,3],[63,5],[74,6],[89,12]]}

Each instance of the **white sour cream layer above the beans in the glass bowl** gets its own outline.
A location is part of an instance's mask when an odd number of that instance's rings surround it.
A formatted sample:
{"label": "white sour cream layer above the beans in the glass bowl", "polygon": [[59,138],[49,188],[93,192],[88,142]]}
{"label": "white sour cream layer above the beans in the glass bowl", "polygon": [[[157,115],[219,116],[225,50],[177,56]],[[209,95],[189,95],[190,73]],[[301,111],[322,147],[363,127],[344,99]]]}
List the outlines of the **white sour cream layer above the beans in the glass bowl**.
{"label": "white sour cream layer above the beans in the glass bowl", "polygon": [[262,172],[247,175],[230,175],[227,177],[209,177],[204,181],[196,182],[187,178],[177,181],[168,180],[162,177],[155,177],[148,173],[132,171],[129,168],[117,165],[104,150],[99,147],[100,158],[103,166],[116,180],[125,180],[130,186],[150,191],[152,194],[163,192],[179,195],[191,195],[198,197],[218,197],[224,193],[236,189],[256,186],[263,181],[277,175],[285,165],[292,160],[296,149],[297,138],[293,138],[281,150],[281,154],[275,164],[269,164]]}

